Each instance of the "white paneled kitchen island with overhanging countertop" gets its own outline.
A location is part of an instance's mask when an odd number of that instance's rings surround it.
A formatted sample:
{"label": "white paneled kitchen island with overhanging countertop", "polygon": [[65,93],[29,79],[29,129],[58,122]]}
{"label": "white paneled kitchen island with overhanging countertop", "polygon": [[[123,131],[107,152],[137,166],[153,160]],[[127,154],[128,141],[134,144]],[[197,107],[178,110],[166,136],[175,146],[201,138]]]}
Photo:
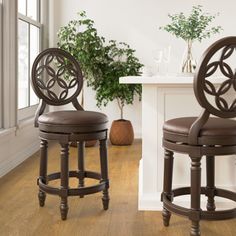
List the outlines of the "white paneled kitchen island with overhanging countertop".
{"label": "white paneled kitchen island with overhanging countertop", "polygon": [[[120,83],[142,84],[142,159],[139,166],[139,210],[161,210],[160,194],[163,182],[162,126],[165,120],[181,116],[198,116],[201,107],[193,92],[193,77],[129,76]],[[173,186],[188,186],[190,160],[183,154],[174,159]],[[236,188],[236,160],[216,158],[217,186]],[[205,163],[202,162],[202,183],[205,183]],[[189,205],[188,198],[183,198]]]}

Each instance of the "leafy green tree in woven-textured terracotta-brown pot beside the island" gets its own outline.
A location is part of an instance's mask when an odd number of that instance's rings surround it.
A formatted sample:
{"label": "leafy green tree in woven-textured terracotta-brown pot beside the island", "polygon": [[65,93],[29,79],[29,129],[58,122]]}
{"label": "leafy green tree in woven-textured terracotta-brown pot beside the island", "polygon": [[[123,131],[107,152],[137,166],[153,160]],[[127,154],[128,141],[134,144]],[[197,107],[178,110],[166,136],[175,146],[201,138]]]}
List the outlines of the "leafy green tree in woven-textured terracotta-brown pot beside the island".
{"label": "leafy green tree in woven-textured terracotta-brown pot beside the island", "polygon": [[97,105],[106,106],[116,101],[120,109],[120,119],[114,120],[110,129],[109,139],[113,145],[130,145],[134,139],[132,124],[124,119],[124,106],[132,104],[134,96],[141,99],[141,85],[120,84],[119,78],[129,75],[140,75],[142,64],[135,57],[135,50],[126,43],[111,40],[105,47],[106,61],[102,70],[102,78],[92,83],[96,90]]}

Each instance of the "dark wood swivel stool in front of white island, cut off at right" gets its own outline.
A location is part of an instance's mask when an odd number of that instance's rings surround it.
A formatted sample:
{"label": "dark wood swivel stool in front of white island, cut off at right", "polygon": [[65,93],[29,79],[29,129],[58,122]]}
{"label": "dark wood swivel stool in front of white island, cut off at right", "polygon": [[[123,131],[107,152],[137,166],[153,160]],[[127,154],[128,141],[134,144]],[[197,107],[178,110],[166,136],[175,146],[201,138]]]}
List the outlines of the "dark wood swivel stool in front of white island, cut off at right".
{"label": "dark wood swivel stool in front of white island, cut off at right", "polygon": [[[232,119],[236,117],[236,61],[233,56],[236,56],[236,37],[220,39],[206,50],[194,76],[195,96],[203,109],[201,115],[172,119],[165,122],[163,127],[164,225],[169,225],[171,212],[188,217],[192,223],[190,235],[194,236],[200,235],[200,220],[236,217],[236,208],[216,211],[214,200],[215,196],[219,196],[236,201],[235,192],[215,186],[217,173],[214,168],[215,156],[236,154],[236,121]],[[218,73],[217,77],[215,73]],[[211,82],[213,77],[220,80],[218,85]],[[188,154],[191,159],[190,187],[172,189],[175,152]],[[206,157],[205,187],[201,187],[203,156]],[[173,203],[174,197],[187,194],[191,195],[190,208]],[[206,210],[201,209],[201,194],[208,199]]]}

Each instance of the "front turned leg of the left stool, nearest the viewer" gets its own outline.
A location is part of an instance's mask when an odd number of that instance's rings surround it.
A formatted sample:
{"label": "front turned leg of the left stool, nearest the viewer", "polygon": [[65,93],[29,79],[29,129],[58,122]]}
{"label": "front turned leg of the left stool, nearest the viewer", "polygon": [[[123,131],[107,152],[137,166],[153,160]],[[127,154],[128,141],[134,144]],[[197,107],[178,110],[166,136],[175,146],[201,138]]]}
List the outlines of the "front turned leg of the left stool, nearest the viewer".
{"label": "front turned leg of the left stool, nearest the viewer", "polygon": [[68,213],[68,187],[69,187],[69,144],[61,143],[61,219],[66,220]]}

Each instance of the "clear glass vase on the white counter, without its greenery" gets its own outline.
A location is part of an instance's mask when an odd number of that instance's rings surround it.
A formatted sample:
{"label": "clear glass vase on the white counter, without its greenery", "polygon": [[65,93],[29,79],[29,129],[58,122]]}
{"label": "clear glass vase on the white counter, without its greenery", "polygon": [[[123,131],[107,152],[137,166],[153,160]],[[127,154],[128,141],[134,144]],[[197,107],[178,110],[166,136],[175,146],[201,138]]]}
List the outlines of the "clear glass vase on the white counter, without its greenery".
{"label": "clear glass vase on the white counter, without its greenery", "polygon": [[192,56],[192,40],[187,40],[187,48],[183,56],[182,73],[194,73],[196,69],[196,60]]}

